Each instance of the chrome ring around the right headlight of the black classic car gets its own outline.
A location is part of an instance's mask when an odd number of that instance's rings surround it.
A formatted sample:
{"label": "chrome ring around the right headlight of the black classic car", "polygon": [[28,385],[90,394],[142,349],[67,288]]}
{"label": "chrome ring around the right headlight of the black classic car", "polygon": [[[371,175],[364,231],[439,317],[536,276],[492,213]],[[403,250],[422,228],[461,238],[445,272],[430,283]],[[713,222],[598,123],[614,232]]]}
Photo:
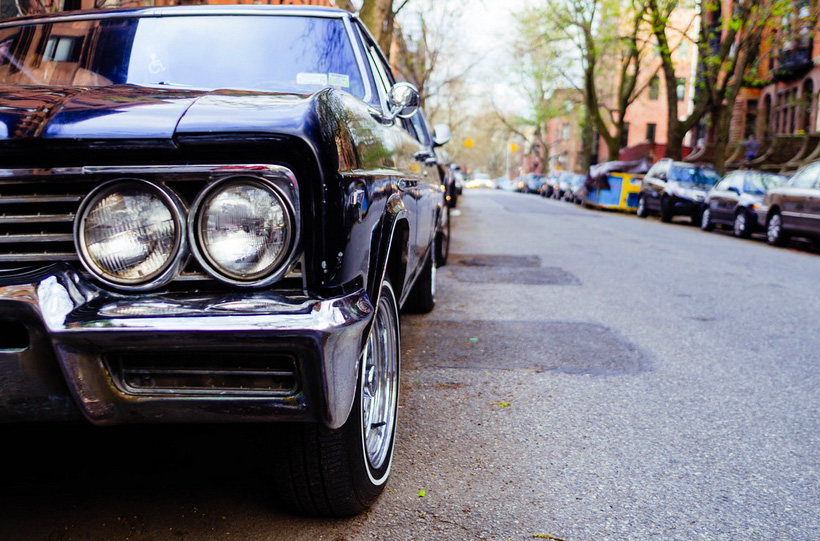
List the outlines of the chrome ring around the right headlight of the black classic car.
{"label": "chrome ring around the right headlight of the black classic car", "polygon": [[[216,195],[231,186],[249,185],[266,190],[283,209],[285,227],[287,228],[287,242],[281,253],[264,270],[250,276],[240,276],[226,269],[216,262],[204,246],[203,209]],[[202,268],[213,278],[237,287],[262,287],[272,284],[287,274],[294,262],[294,254],[299,240],[299,220],[291,198],[277,182],[267,177],[256,175],[237,175],[222,178],[203,189],[191,205],[188,213],[189,243],[194,257]]]}

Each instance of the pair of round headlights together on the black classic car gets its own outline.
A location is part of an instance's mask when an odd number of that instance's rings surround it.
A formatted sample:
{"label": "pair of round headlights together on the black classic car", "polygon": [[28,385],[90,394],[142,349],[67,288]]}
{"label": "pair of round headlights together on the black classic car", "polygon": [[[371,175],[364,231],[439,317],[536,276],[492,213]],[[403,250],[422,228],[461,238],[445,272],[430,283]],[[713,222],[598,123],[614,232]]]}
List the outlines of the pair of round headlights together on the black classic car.
{"label": "pair of round headlights together on the black classic car", "polygon": [[259,286],[286,270],[295,236],[286,201],[273,184],[242,177],[211,184],[186,212],[169,190],[122,179],[89,194],[74,236],[86,269],[117,287],[167,283],[185,264],[189,247],[215,278]]}

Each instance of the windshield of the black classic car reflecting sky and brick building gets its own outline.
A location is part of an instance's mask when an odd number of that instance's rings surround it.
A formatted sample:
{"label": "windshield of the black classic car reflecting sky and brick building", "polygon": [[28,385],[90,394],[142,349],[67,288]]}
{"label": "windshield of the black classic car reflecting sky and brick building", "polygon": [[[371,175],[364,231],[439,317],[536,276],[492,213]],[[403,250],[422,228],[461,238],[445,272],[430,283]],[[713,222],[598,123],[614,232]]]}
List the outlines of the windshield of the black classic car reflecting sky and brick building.
{"label": "windshield of the black classic car reflecting sky and brick building", "polygon": [[0,84],[184,86],[365,96],[341,19],[172,16],[0,28]]}

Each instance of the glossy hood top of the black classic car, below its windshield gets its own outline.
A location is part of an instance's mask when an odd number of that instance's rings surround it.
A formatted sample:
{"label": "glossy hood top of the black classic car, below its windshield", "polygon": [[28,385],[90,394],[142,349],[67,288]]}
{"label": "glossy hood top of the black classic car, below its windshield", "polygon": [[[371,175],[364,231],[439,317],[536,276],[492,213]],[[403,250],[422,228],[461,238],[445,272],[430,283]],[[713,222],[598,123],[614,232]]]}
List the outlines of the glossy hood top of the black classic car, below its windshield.
{"label": "glossy hood top of the black classic car, below its windshield", "polygon": [[299,132],[308,96],[131,85],[0,85],[0,144],[22,139],[172,139],[182,134]]}

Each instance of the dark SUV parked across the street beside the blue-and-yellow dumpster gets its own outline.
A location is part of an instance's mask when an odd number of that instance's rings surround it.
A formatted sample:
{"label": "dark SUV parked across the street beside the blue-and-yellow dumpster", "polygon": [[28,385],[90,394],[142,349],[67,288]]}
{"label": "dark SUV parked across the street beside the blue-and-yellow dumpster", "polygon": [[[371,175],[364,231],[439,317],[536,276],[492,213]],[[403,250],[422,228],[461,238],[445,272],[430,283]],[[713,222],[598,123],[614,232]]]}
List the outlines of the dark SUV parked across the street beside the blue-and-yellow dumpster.
{"label": "dark SUV parked across the street beside the blue-and-yellow dumpster", "polygon": [[644,175],[636,212],[641,218],[658,213],[664,222],[671,222],[675,216],[689,216],[694,223],[700,223],[706,192],[719,180],[720,175],[709,165],[664,158]]}

